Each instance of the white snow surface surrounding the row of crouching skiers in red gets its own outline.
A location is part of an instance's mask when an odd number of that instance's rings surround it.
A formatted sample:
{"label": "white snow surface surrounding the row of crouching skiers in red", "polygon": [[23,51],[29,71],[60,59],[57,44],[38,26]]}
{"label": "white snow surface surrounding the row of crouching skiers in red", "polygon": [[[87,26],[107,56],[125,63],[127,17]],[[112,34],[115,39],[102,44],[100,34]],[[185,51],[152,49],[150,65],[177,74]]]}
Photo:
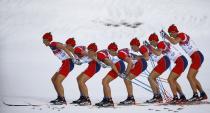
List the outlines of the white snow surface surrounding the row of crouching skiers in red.
{"label": "white snow surface surrounding the row of crouching skiers in red", "polygon": [[[112,41],[119,48],[129,47],[129,41],[138,37],[141,41],[161,29],[167,30],[176,24],[180,31],[186,32],[205,56],[205,62],[198,78],[203,89],[210,95],[209,42],[210,42],[210,1],[209,0],[1,0],[0,1],[0,97],[1,100],[16,99],[47,102],[56,97],[50,78],[60,67],[60,61],[49,48],[42,44],[41,36],[51,31],[55,41],[65,42],[75,37],[78,45],[96,42],[99,49],[106,48]],[[137,28],[126,26],[112,27],[103,23],[133,24],[141,22]],[[177,47],[182,53],[180,47]],[[183,53],[186,55],[185,53]],[[186,55],[187,56],[187,55]],[[189,57],[187,57],[189,59]],[[190,61],[190,59],[189,59]],[[75,66],[63,85],[69,102],[77,99],[79,91],[76,83],[78,74],[87,65]],[[188,66],[189,68],[189,66]],[[151,68],[150,68],[151,69]],[[187,69],[188,70],[188,69]],[[87,82],[93,103],[103,98],[101,80],[109,69],[101,69]],[[79,72],[79,73],[78,73]],[[192,96],[186,73],[178,80],[187,98]],[[164,73],[167,78],[169,72]],[[138,77],[145,83],[147,79]],[[169,86],[164,84],[170,92]],[[144,102],[152,94],[134,86],[137,102]],[[127,96],[123,81],[118,78],[111,83],[113,100],[117,103]],[[180,106],[170,106],[177,109]],[[185,106],[180,112],[209,113],[209,105]],[[149,108],[169,112],[163,106],[130,106],[119,109],[90,109],[88,107],[66,106],[60,112],[156,112]],[[30,107],[7,107],[0,104],[1,113],[46,113],[56,110],[32,109]]]}

